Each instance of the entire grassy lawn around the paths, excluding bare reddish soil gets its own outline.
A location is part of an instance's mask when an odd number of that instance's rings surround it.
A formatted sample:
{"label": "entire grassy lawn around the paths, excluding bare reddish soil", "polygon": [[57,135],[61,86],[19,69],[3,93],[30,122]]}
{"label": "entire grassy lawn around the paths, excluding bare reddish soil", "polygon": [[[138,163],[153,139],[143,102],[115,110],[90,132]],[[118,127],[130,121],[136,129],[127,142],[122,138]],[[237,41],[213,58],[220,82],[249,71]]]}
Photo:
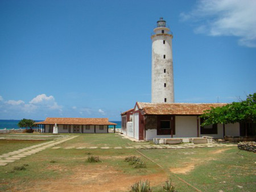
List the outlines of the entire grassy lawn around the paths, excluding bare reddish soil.
{"label": "entire grassy lawn around the paths, excluding bare reddish soil", "polygon": [[[148,160],[148,158],[137,153],[136,149],[100,149],[100,147],[106,146],[148,145],[146,142],[134,143],[128,139],[122,139],[121,136],[114,133],[71,135],[77,135],[78,137],[56,146],[97,146],[99,148],[48,148],[34,155],[11,162],[6,166],[1,166],[0,191],[30,189],[34,187],[36,181],[51,182],[61,180],[61,178],[72,177],[77,173],[94,172],[97,169],[102,169],[103,173],[106,172],[106,177],[108,177],[109,170],[127,177],[152,177],[154,174],[166,172],[166,176],[163,176],[163,179],[167,180],[170,176],[177,191],[195,190],[175,176],[180,177],[202,191],[254,191],[256,186],[256,154],[240,151],[237,147],[138,150],[163,166],[162,169],[154,162]],[[42,142],[44,141],[0,140],[0,155]],[[223,151],[222,149],[226,150]],[[100,162],[92,164],[87,161],[88,156],[98,156]],[[130,156],[139,157],[147,165],[146,168],[135,169],[133,165],[129,165],[125,158]],[[192,165],[193,167],[191,168],[190,166]],[[23,169],[23,166],[26,169]],[[19,168],[22,170],[15,170]],[[175,175],[172,173],[172,170],[181,168],[187,168],[189,171],[187,173],[175,173]],[[78,180],[81,182],[81,185],[88,185],[88,183],[90,185],[97,184],[94,183],[94,180],[82,180],[80,177],[78,177]],[[133,184],[134,182],[130,183],[130,186]],[[70,185],[72,185],[72,182]],[[158,183],[157,186],[150,186],[154,191],[163,191],[164,182]],[[243,188],[240,189],[238,186]]]}

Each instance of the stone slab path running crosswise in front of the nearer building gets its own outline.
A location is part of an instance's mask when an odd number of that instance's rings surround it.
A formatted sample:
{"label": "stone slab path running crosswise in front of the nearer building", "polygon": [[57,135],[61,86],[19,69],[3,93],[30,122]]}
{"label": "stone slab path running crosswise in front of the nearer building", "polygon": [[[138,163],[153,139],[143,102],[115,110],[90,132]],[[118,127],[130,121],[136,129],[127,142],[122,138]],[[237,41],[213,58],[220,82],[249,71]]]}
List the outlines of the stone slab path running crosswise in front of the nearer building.
{"label": "stone slab path running crosswise in front of the nearer building", "polygon": [[177,145],[131,145],[127,147],[53,147],[52,149],[181,149],[181,148],[201,148],[201,147],[237,147],[237,144],[232,143],[207,143],[207,144],[193,144],[184,143]]}

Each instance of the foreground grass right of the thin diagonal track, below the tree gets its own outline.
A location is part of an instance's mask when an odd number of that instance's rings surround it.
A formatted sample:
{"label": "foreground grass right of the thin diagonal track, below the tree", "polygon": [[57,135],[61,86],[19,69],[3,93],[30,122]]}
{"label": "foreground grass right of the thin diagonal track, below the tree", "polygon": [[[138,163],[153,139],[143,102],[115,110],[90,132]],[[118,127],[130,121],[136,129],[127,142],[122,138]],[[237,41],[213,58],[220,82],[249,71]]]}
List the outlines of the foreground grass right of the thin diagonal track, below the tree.
{"label": "foreground grass right of the thin diagonal track, below the tree", "polygon": [[[144,155],[168,170],[174,180],[175,189],[185,191],[177,181],[172,169],[190,168],[187,173],[176,176],[202,191],[253,191],[256,186],[255,153],[240,151],[236,147],[214,153],[225,148],[196,148],[176,150],[140,150]],[[191,169],[191,166],[195,166]]]}

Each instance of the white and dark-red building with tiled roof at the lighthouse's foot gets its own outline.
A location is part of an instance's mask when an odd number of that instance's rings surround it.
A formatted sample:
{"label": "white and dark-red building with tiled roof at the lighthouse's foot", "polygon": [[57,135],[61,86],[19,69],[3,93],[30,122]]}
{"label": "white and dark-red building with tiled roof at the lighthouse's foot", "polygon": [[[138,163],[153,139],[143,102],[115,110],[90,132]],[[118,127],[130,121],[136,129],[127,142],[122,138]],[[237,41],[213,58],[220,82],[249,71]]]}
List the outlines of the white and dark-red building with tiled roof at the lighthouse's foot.
{"label": "white and dark-red building with tiled roof at the lighthouse's foot", "polygon": [[133,109],[122,116],[122,133],[138,140],[168,137],[255,136],[255,124],[212,124],[201,126],[200,115],[211,107],[226,103],[143,103],[137,102]]}

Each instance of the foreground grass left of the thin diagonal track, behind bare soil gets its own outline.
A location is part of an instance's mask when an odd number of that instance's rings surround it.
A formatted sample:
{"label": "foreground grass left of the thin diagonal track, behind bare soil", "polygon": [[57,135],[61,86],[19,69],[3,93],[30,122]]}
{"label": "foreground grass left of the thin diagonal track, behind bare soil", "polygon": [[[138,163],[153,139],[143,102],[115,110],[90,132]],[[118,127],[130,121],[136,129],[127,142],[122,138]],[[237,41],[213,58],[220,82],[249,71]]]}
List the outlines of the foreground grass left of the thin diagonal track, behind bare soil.
{"label": "foreground grass left of the thin diagonal track, behind bare soil", "polygon": [[[0,191],[1,190],[22,190],[30,188],[38,180],[57,180],[67,178],[76,174],[77,170],[86,172],[88,166],[97,166],[115,169],[117,172],[127,176],[147,175],[161,172],[154,163],[146,161],[148,169],[134,169],[127,166],[124,158],[133,155],[135,149],[51,149],[21,158],[1,167]],[[92,164],[87,162],[88,154],[99,156],[100,162]],[[139,156],[139,155],[137,155]],[[54,162],[54,163],[53,163]],[[25,170],[13,171],[15,167],[28,164]],[[102,170],[104,172],[104,170]],[[27,182],[30,181],[30,182]],[[131,183],[132,184],[132,183]]]}

